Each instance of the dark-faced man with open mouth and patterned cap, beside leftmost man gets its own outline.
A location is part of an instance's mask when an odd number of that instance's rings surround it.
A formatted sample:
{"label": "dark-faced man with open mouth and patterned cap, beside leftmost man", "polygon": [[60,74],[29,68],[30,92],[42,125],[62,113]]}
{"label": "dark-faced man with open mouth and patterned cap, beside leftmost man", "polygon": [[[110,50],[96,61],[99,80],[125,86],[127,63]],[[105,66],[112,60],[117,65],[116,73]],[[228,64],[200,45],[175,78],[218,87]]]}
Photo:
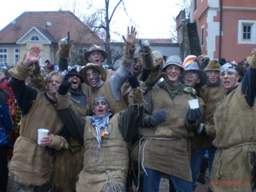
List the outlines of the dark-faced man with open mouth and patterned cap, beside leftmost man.
{"label": "dark-faced man with open mouth and patterned cap, beside leftmost man", "polygon": [[[61,74],[64,81],[71,84],[68,93],[74,112],[83,117],[89,115],[90,102],[81,89],[83,80],[79,66],[69,65]],[[77,175],[83,168],[83,143],[76,140],[70,132],[67,141],[68,149],[62,150],[54,159],[51,191],[76,191]]]}

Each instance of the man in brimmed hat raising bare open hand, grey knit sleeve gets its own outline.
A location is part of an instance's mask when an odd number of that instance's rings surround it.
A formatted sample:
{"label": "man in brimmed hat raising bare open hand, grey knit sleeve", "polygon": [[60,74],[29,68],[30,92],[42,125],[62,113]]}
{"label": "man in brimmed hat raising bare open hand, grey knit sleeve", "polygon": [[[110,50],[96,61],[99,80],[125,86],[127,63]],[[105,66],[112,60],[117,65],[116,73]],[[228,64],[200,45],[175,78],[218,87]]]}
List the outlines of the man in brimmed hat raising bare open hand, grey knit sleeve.
{"label": "man in brimmed hat raising bare open hand, grey knit sleeve", "polygon": [[87,87],[82,86],[82,89],[87,97],[89,97],[90,102],[92,103],[99,95],[103,95],[108,99],[109,107],[114,114],[127,109],[124,97],[122,97],[121,87],[132,71],[132,61],[134,51],[136,50],[136,33],[133,26],[131,27],[131,31],[129,31],[128,27],[127,38],[123,36],[125,48],[122,65],[109,79],[105,68],[101,65],[87,63],[85,67],[81,68],[84,83],[89,85]]}

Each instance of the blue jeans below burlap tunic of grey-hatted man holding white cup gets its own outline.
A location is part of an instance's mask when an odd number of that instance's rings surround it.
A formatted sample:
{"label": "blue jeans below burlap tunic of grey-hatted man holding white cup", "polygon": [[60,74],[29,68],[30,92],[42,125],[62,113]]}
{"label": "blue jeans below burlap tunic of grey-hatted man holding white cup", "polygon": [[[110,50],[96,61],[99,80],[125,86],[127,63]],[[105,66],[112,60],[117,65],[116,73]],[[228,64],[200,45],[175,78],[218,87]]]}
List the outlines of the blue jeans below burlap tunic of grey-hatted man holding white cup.
{"label": "blue jeans below burlap tunic of grey-hatted man holding white cup", "polygon": [[[147,192],[158,192],[159,184],[162,177],[162,172],[157,170],[152,170],[149,168],[145,168],[148,175],[143,172],[143,191]],[[179,177],[175,177],[170,175],[170,179],[173,182],[173,186],[176,192],[192,192],[192,184],[188,180],[180,179]]]}

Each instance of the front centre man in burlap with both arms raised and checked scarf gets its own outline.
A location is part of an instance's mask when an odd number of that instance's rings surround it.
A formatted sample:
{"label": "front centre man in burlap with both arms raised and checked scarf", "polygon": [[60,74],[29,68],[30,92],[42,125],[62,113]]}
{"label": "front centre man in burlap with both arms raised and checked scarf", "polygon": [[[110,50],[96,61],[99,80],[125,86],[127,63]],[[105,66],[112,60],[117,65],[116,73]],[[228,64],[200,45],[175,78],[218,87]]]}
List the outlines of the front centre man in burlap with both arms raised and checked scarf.
{"label": "front centre man in burlap with both arms raised and checked scarf", "polygon": [[[127,146],[138,132],[145,104],[136,76],[130,77],[130,106],[115,115],[106,97],[100,95],[92,102],[92,118],[81,118],[68,108],[68,95],[59,92],[61,119],[68,131],[84,142],[84,167],[76,191],[125,191],[129,163]],[[68,84],[64,83],[63,87],[68,89]]]}

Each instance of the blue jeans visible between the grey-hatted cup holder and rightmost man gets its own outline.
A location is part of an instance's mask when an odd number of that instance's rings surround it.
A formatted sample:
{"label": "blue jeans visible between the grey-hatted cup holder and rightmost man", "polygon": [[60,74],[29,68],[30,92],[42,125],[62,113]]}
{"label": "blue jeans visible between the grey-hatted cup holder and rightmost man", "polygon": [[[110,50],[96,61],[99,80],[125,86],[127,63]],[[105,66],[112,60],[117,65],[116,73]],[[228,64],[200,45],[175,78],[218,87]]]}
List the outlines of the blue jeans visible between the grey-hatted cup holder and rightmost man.
{"label": "blue jeans visible between the grey-hatted cup holder and rightmost man", "polygon": [[211,175],[212,163],[213,163],[215,152],[216,152],[217,148],[214,147],[213,145],[210,148],[191,148],[190,167],[191,167],[192,179],[193,179],[193,181],[192,181],[193,189],[196,188],[196,177],[199,173],[200,166],[201,166],[202,161],[205,157],[206,150],[208,150],[209,173]]}

